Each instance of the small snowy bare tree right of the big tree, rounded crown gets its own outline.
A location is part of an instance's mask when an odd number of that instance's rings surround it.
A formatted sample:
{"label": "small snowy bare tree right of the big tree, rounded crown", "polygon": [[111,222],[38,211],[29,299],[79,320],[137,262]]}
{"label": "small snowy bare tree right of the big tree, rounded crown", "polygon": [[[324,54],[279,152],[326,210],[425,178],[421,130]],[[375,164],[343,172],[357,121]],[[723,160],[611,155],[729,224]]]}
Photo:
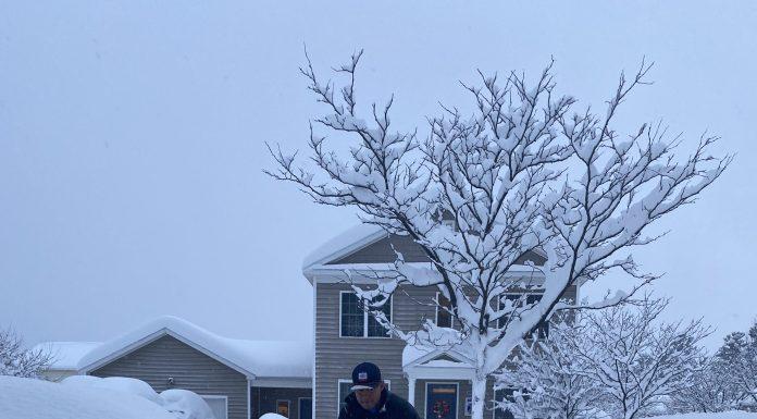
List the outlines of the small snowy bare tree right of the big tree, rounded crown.
{"label": "small snowy bare tree right of the big tree, rounded crown", "polygon": [[586,311],[572,345],[583,373],[604,389],[615,417],[642,417],[661,397],[691,385],[710,331],[700,320],[663,323],[668,301],[645,297],[637,306]]}

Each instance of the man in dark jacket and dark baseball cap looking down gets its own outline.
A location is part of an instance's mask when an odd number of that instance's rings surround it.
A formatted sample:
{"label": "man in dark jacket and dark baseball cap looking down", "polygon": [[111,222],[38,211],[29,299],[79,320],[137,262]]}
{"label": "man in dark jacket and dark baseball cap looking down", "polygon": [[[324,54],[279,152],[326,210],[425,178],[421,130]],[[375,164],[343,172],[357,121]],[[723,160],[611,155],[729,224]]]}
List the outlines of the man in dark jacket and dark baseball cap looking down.
{"label": "man in dark jacket and dark baseball cap looking down", "polygon": [[352,393],[339,410],[339,419],[419,419],[415,408],[386,390],[375,363],[362,362],[352,370]]}

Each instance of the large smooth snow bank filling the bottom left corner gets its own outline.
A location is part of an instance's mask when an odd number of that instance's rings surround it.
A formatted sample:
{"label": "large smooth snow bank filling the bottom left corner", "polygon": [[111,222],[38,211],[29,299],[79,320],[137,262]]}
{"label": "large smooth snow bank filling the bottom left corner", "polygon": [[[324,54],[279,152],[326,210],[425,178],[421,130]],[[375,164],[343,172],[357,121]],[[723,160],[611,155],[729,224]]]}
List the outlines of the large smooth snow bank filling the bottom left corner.
{"label": "large smooth snow bank filling the bottom left corner", "polygon": [[109,389],[0,377],[1,419],[176,419],[144,397]]}

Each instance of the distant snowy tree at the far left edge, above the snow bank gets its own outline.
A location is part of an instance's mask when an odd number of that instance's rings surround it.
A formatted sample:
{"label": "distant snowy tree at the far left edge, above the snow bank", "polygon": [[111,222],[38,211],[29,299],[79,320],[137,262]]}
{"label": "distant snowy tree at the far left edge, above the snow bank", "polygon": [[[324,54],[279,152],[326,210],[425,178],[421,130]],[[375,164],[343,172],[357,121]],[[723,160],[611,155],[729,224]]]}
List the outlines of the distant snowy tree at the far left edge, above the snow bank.
{"label": "distant snowy tree at the far left edge, above the snow bank", "polygon": [[24,348],[23,340],[12,329],[0,330],[0,375],[40,378],[52,358],[49,352]]}

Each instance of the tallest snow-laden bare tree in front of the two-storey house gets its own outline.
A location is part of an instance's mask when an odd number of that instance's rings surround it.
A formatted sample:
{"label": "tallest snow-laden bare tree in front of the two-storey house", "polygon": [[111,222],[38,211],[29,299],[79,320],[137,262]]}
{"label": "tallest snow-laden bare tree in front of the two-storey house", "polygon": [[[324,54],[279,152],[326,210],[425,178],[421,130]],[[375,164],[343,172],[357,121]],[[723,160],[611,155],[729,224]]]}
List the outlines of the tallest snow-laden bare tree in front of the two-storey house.
{"label": "tallest snow-laden bare tree in front of the two-storey house", "polygon": [[[326,110],[310,124],[313,164],[269,146],[277,165],[266,173],[318,204],[352,207],[363,222],[420,246],[430,263],[406,263],[398,255],[376,288],[355,291],[395,336],[457,345],[473,361],[472,419],[483,418],[487,377],[523,337],[557,310],[575,308],[561,300],[566,291],[610,270],[632,280],[625,285],[654,279],[629,249],[651,243],[646,227],[694,201],[731,161],[709,155],[715,137],[702,137],[680,159],[673,156],[680,140],[666,138],[659,125],[642,124],[630,136],[612,128],[621,102],[644,83],[646,64],[630,79],[621,75],[601,112],[574,111],[575,99],[557,94],[551,64],[533,84],[517,73],[480,72],[480,84],[463,85],[470,114],[443,106],[421,137],[418,128],[395,131],[394,97],[360,107],[361,58],[362,51],[335,69],[345,77],[340,86],[318,77],[308,58],[301,72]],[[351,143],[331,148],[320,130]],[[546,257],[544,264],[532,263],[534,251]],[[460,328],[390,324],[381,306],[405,285],[437,287]],[[529,286],[542,298],[499,303],[506,292]]]}

